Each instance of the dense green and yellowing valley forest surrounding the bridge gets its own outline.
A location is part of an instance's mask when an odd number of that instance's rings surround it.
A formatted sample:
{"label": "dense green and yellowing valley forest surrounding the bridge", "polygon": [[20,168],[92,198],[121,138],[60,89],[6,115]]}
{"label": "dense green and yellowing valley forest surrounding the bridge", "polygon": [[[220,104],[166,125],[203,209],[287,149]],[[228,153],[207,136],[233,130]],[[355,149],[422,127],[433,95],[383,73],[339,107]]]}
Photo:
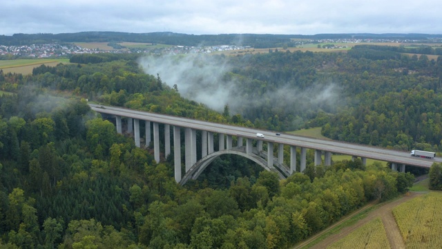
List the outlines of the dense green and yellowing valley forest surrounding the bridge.
{"label": "dense green and yellowing valley forest surrounding the bridge", "polygon": [[[336,140],[439,151],[441,57],[367,49],[215,55],[231,66],[221,80],[236,82],[232,98],[260,100],[222,113],[183,98],[180,86],[144,73],[133,57],[84,55],[32,75],[0,71],[0,247],[290,248],[369,201],[407,192],[410,172],[361,160],[314,166],[312,151],[304,174],[284,181],[223,156],[180,186],[171,158],[155,163],[149,147],[135,147],[86,100],[260,129],[322,127]],[[284,106],[273,102],[280,89],[323,98],[283,95],[291,98]]]}

